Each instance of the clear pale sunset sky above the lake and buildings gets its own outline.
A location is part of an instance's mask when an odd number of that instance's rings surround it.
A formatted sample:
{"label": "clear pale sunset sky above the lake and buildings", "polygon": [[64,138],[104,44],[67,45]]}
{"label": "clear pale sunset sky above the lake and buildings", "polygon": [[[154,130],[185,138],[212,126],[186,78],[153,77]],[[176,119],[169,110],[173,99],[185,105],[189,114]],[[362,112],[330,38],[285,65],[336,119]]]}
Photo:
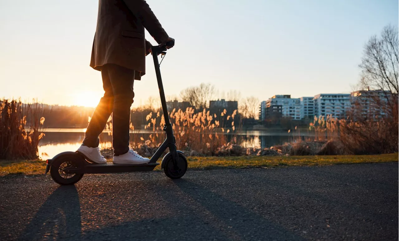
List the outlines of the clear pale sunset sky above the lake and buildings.
{"label": "clear pale sunset sky above the lake and buildings", "polygon": [[[364,44],[399,27],[398,0],[147,3],[176,40],[161,65],[166,96],[200,83],[260,101],[350,93]],[[95,107],[104,93],[89,67],[97,10],[96,0],[0,0],[0,97]],[[159,98],[150,56],[134,93],[132,107]]]}

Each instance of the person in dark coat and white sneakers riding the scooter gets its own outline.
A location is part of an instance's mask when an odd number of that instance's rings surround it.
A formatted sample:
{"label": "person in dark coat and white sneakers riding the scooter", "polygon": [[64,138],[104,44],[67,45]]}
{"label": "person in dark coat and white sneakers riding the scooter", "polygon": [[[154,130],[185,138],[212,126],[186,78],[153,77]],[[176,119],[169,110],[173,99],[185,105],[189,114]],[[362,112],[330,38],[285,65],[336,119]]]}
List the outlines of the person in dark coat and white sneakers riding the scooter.
{"label": "person in dark coat and white sneakers riding the scooter", "polygon": [[158,44],[174,39],[162,28],[145,0],[99,0],[97,28],[90,66],[101,71],[104,96],[87,126],[85,138],[78,148],[87,159],[106,163],[99,149],[99,135],[113,113],[114,164],[144,164],[149,159],[129,147],[130,106],[133,103],[133,82],[145,74],[145,56],[151,44],[144,37],[144,28]]}

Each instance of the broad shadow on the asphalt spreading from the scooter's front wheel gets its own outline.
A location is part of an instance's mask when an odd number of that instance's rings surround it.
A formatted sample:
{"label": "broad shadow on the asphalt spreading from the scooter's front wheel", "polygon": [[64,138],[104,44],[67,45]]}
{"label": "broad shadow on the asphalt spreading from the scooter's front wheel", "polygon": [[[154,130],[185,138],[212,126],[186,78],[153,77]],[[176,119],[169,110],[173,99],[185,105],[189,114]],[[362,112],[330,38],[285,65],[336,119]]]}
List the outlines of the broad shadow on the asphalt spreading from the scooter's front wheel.
{"label": "broad shadow on the asphalt spreading from the scooter's front wheel", "polygon": [[[255,211],[185,179],[140,192],[162,196],[168,215],[141,217],[83,233],[86,240],[304,240]],[[148,186],[153,186],[149,184]],[[126,190],[134,192],[134,190]],[[134,211],[134,210],[132,210]]]}

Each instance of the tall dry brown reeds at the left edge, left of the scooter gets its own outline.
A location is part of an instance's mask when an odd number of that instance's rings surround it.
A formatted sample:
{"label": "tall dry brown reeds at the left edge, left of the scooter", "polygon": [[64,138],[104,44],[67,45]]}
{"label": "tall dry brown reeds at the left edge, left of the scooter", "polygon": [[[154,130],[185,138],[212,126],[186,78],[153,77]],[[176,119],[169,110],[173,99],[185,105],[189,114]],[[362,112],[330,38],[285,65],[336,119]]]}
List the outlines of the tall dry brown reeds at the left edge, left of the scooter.
{"label": "tall dry brown reeds at the left edge, left of the scooter", "polygon": [[43,108],[38,103],[0,100],[0,159],[38,158],[38,144],[43,137]]}

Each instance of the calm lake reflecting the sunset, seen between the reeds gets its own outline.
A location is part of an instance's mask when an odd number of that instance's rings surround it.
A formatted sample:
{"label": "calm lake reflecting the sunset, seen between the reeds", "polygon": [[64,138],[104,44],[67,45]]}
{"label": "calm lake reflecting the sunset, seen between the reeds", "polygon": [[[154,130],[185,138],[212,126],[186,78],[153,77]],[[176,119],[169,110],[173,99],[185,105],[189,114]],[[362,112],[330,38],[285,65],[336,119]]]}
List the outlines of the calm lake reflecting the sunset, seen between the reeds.
{"label": "calm lake reflecting the sunset, seen between the reeds", "polygon": [[[45,160],[64,151],[75,151],[85,138],[86,128],[47,128],[45,136],[39,142],[39,156]],[[130,130],[130,135],[148,136],[152,130]],[[160,132],[162,134],[162,131]],[[237,142],[244,147],[270,147],[297,139],[298,136],[306,138],[308,133],[287,133],[268,130],[247,130],[237,134]],[[227,134],[228,137],[233,136]],[[178,141],[178,140],[177,140]],[[112,147],[112,136],[107,131],[100,135],[100,148]]]}

